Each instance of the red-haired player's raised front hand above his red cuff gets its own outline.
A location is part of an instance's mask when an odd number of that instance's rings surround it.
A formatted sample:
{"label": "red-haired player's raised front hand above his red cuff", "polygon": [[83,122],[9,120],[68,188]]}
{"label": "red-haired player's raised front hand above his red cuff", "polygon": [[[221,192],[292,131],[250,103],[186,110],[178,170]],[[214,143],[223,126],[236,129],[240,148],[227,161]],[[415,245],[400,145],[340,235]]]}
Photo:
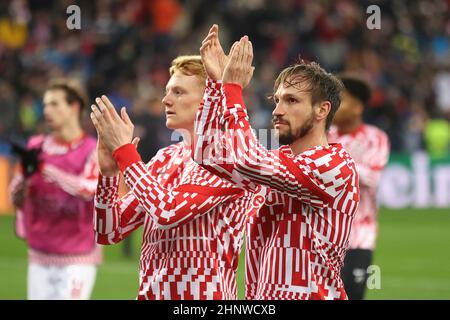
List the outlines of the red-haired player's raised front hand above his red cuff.
{"label": "red-haired player's raised front hand above his red cuff", "polygon": [[112,154],[117,148],[132,142],[134,125],[125,108],[121,109],[120,116],[108,97],[103,95],[92,105],[91,120],[97,134]]}

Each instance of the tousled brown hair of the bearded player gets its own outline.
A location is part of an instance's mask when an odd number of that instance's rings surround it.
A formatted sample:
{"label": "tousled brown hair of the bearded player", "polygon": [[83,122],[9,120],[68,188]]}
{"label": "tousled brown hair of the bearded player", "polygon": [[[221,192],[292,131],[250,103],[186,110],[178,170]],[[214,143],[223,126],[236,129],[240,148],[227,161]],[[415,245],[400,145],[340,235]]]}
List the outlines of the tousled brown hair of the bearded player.
{"label": "tousled brown hair of the bearded player", "polygon": [[325,130],[328,130],[334,115],[341,104],[342,82],[333,74],[325,71],[316,62],[306,62],[303,59],[285,68],[278,75],[274,84],[274,92],[283,84],[286,87],[296,86],[311,93],[311,103],[329,101],[330,113],[327,116]]}

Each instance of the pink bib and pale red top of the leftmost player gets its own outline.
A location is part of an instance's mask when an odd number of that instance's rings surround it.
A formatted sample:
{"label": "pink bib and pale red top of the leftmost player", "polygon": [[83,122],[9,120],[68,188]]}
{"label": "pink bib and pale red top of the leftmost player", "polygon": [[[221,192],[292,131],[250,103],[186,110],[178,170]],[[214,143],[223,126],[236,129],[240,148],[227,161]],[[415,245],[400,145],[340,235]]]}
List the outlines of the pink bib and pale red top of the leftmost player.
{"label": "pink bib and pale red top of the leftmost player", "polygon": [[[46,265],[100,262],[93,230],[98,164],[94,138],[71,143],[51,135],[34,136],[29,148],[42,147],[40,170],[28,178],[28,196],[17,210],[17,234],[29,245],[30,262]],[[23,177],[12,183],[12,190]]]}

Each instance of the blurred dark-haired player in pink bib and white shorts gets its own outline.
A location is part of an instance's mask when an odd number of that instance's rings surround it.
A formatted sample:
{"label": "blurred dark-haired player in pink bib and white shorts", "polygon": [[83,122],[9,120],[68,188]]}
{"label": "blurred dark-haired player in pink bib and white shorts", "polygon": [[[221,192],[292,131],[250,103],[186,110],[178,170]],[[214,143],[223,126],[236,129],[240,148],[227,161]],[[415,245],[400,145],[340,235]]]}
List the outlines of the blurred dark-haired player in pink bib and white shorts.
{"label": "blurred dark-haired player in pink bib and white shorts", "polygon": [[[30,138],[39,166],[11,184],[17,234],[28,246],[28,299],[89,299],[101,251],[95,244],[93,198],[98,177],[95,139],[80,125],[83,90],[69,81],[44,94],[47,135]],[[29,175],[29,176],[28,176]]]}

